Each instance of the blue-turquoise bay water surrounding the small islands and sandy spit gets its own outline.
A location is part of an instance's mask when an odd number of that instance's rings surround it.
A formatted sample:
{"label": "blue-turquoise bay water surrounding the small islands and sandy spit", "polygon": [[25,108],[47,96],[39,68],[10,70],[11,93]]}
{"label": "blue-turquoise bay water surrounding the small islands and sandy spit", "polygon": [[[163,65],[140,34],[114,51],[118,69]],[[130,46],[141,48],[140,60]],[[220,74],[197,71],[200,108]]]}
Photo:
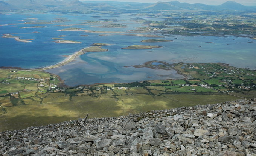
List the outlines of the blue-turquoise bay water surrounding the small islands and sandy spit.
{"label": "blue-turquoise bay water surrounding the small islands and sandy spit", "polygon": [[[100,17],[94,17],[100,16]],[[93,43],[110,43],[103,46],[107,52],[90,52],[78,57],[74,62],[59,68],[47,70],[60,75],[70,86],[78,84],[94,84],[107,82],[131,82],[165,78],[183,78],[175,71],[154,70],[149,68],[133,68],[146,61],[157,60],[167,63],[176,62],[222,62],[231,66],[256,69],[256,44],[249,38],[237,36],[165,36],[173,42],[144,43],[141,40],[150,39],[141,36],[126,36],[121,34],[85,33],[84,31],[57,31],[63,28],[78,27],[89,31],[117,31],[131,34],[130,30],[143,27],[129,18],[145,16],[125,15],[89,15],[89,14],[8,14],[0,15],[0,33],[11,33],[21,39],[34,39],[30,43],[17,42],[11,38],[0,38],[0,66],[15,66],[21,68],[39,68],[53,65],[65,59],[62,55],[70,55],[88,47]],[[22,24],[38,18],[40,21],[53,21],[51,24]],[[56,23],[57,18],[69,21]],[[31,20],[31,19],[30,19]],[[86,23],[88,20],[101,21],[99,24],[57,26],[64,24]],[[155,19],[157,20],[157,19]],[[159,19],[158,19],[159,20]],[[102,28],[105,21],[125,24],[126,28]],[[8,24],[8,25],[7,25]],[[17,24],[17,25],[10,25]],[[46,26],[44,28],[26,28],[29,26]],[[32,33],[38,31],[39,33]],[[18,33],[18,34],[15,34]],[[142,33],[140,33],[142,34]],[[149,33],[145,33],[149,34]],[[81,44],[57,44],[51,38],[66,35],[64,40],[75,40]],[[88,35],[87,37],[80,35]],[[212,42],[212,43],[207,43]],[[130,45],[158,45],[163,48],[129,50],[121,49]],[[124,67],[129,66],[129,67]]]}

